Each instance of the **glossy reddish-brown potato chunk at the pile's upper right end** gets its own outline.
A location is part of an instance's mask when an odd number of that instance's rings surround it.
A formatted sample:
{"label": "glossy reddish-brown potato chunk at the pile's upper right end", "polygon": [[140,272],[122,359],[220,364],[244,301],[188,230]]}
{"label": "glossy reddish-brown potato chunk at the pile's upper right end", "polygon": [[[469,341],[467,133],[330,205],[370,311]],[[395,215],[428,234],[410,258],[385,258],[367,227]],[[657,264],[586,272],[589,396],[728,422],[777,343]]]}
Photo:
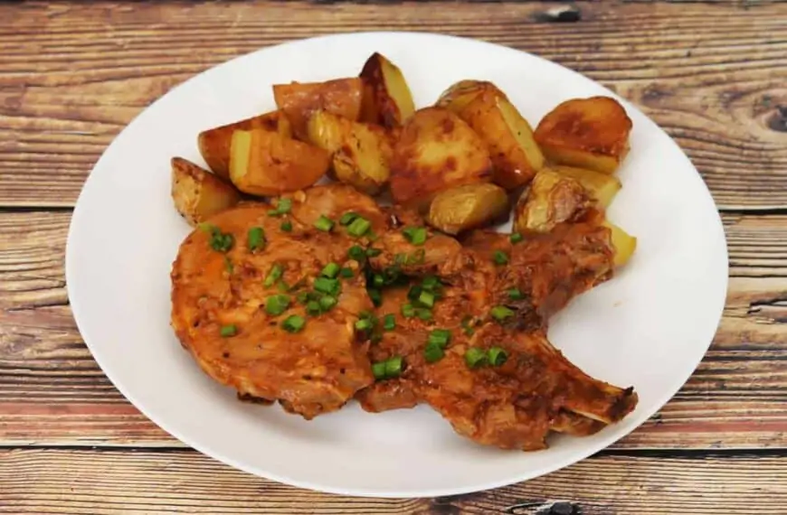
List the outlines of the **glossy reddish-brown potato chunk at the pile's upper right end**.
{"label": "glossy reddish-brown potato chunk at the pile's upper right end", "polygon": [[631,118],[614,98],[567,100],[536,127],[536,143],[554,164],[614,173],[629,152]]}

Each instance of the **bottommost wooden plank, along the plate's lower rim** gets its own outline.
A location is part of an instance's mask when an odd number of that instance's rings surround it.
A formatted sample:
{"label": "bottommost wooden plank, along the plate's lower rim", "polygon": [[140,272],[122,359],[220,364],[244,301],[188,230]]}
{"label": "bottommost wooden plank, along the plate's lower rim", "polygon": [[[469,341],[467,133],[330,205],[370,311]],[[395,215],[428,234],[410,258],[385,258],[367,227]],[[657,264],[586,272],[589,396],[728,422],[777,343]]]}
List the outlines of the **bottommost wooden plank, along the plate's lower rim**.
{"label": "bottommost wooden plank, along the plate's lower rim", "polygon": [[[599,455],[530,482],[453,498],[300,490],[201,454],[0,451],[0,513],[781,514],[787,457]],[[555,506],[555,504],[559,504]],[[550,508],[553,510],[550,511]]]}

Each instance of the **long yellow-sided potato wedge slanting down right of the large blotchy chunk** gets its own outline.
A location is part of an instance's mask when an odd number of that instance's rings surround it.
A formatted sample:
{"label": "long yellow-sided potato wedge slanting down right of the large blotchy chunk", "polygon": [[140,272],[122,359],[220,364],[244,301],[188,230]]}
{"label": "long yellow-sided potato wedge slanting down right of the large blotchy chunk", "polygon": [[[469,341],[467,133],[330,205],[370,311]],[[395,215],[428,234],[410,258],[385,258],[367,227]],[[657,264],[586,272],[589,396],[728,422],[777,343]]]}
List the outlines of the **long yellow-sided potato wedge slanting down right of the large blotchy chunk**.
{"label": "long yellow-sided potato wedge slanting down right of the large blotchy chunk", "polygon": [[532,181],[544,166],[533,129],[499,89],[486,88],[475,94],[458,114],[487,143],[495,183],[514,190]]}

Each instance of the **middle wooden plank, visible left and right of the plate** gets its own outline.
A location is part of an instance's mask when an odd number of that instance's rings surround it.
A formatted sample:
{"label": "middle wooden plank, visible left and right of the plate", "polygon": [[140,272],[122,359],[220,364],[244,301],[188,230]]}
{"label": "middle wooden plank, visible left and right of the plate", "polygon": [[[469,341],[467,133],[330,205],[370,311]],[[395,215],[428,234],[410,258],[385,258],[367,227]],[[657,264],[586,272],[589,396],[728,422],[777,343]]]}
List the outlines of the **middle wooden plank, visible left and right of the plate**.
{"label": "middle wooden plank, visible left and right of the plate", "polygon": [[[0,444],[180,445],[128,404],[81,341],[63,281],[70,216],[0,213]],[[787,446],[787,216],[724,222],[732,278],[713,347],[619,448]]]}

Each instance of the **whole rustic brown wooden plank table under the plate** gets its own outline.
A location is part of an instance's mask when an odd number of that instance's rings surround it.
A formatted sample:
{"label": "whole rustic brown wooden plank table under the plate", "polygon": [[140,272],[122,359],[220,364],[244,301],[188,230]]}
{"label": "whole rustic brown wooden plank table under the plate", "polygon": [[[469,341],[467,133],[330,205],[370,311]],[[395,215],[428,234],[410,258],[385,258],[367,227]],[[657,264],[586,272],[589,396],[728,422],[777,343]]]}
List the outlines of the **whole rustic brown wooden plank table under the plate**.
{"label": "whole rustic brown wooden plank table under the plate", "polygon": [[[787,513],[787,5],[158,2],[0,5],[0,512]],[[577,16],[568,16],[575,19]],[[128,404],[71,318],[63,249],[82,183],[132,117],[245,52],[359,30],[503,43],[615,89],[712,190],[724,319],[632,435],[535,481],[456,498],[307,492],[198,454]]]}

